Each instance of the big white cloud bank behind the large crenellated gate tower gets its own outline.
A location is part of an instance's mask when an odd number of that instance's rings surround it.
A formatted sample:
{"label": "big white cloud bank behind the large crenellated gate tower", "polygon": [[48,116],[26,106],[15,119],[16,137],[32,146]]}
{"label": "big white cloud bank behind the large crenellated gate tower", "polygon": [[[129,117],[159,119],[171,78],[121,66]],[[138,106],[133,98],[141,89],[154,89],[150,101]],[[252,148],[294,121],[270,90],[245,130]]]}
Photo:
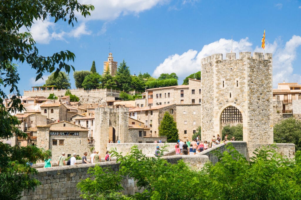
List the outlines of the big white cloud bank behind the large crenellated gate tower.
{"label": "big white cloud bank behind the large crenellated gate tower", "polygon": [[[277,88],[278,83],[301,81],[301,75],[293,73],[293,61],[296,60],[297,48],[301,46],[301,37],[292,36],[292,38],[281,46],[281,39],[277,38],[273,43],[265,43],[265,52],[273,53],[273,87]],[[163,63],[156,67],[153,76],[159,77],[161,73],[175,72],[179,79],[184,79],[191,73],[200,71],[201,59],[206,56],[222,53],[223,58],[227,52],[231,52],[231,39],[220,39],[204,45],[200,52],[189,49],[182,55],[174,54],[166,58]],[[233,41],[233,52],[239,57],[239,52],[263,52],[262,48],[256,46],[252,48],[252,43],[248,38]],[[300,64],[298,63],[299,68]],[[297,68],[297,67],[296,67]],[[180,83],[181,84],[181,83]]]}

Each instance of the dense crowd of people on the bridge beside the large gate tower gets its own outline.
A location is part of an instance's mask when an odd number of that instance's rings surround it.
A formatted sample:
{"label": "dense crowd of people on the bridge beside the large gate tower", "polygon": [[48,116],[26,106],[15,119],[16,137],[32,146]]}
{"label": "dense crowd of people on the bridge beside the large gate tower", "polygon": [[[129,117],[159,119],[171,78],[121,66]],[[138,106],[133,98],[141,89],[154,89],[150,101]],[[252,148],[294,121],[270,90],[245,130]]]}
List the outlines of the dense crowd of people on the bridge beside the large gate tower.
{"label": "dense crowd of people on the bridge beside the large gate tower", "polygon": [[[231,141],[234,140],[235,137],[232,137]],[[222,142],[225,143],[225,141],[228,141],[228,135],[225,136],[225,139]],[[190,142],[188,139],[187,141],[179,139],[177,144],[175,145],[175,155],[188,155],[188,152],[189,155],[194,155],[197,152],[202,152],[204,150],[207,150],[208,148],[215,147],[220,143],[221,137],[219,136],[219,134],[217,134],[216,137],[213,136],[209,144],[206,140],[204,142],[200,140],[199,136],[197,136],[197,138],[194,139],[192,142]]]}

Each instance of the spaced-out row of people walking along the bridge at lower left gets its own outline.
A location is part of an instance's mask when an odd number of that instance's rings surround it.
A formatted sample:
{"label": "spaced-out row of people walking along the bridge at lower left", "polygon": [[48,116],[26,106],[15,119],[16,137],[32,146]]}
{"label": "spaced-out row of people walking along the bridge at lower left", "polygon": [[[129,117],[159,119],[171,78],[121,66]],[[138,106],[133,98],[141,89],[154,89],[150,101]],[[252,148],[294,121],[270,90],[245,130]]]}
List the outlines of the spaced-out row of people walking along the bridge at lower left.
{"label": "spaced-out row of people walking along the bridge at lower left", "polygon": [[[58,166],[64,166],[67,165],[67,161],[65,158],[65,152],[62,152],[62,155],[58,158],[57,161],[57,165]],[[97,163],[97,162],[101,162],[101,158],[99,155],[98,151],[93,151],[93,153],[90,155],[90,162],[87,161],[87,152],[84,152],[84,155],[82,156],[82,164],[89,164],[89,163]],[[70,165],[75,165],[76,164],[76,153],[73,153],[73,156],[70,158]],[[111,154],[109,151],[106,152],[105,155],[105,161],[111,161]],[[44,168],[46,167],[52,167],[52,162],[51,162],[51,158],[48,157],[47,159],[44,160],[45,164],[44,164]]]}

